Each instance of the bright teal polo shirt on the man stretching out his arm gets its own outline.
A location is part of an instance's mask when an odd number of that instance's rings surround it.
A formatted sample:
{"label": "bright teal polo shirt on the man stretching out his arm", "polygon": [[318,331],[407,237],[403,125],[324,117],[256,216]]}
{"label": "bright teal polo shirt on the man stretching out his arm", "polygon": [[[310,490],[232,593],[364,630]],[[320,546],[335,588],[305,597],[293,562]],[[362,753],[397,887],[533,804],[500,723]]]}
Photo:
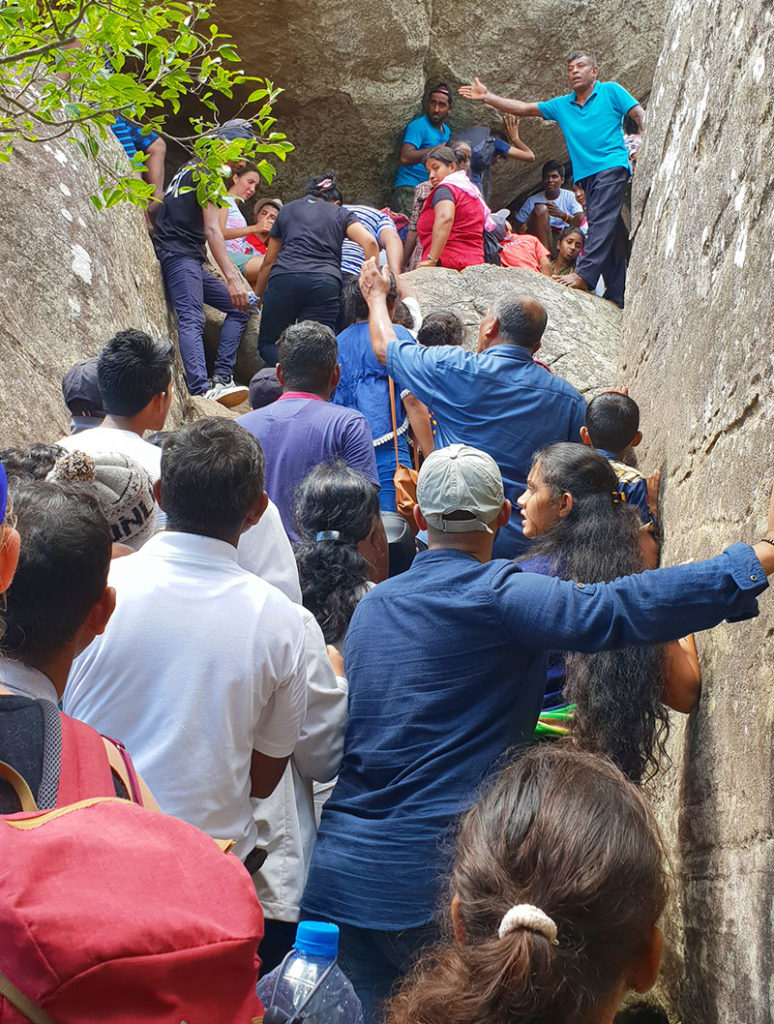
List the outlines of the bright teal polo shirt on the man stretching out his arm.
{"label": "bright teal polo shirt on the man stretching out his arm", "polygon": [[556,121],[564,134],[575,181],[611,167],[629,167],[624,142],[624,115],[637,100],[617,82],[597,82],[582,106],[575,93],[538,103],[546,121]]}

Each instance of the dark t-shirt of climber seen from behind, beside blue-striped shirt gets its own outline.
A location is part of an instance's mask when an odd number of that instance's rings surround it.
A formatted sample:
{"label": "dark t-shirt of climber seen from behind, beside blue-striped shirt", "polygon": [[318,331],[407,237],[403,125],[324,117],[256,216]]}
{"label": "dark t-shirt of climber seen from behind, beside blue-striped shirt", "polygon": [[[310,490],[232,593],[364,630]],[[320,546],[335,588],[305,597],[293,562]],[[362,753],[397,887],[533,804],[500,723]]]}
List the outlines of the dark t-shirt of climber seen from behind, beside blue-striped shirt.
{"label": "dark t-shirt of climber seen from behind, beside blue-striped shirt", "polygon": [[281,273],[330,273],[341,280],[341,244],[347,227],[357,222],[349,210],[311,196],[288,203],[269,233],[269,238],[283,242],[269,278]]}

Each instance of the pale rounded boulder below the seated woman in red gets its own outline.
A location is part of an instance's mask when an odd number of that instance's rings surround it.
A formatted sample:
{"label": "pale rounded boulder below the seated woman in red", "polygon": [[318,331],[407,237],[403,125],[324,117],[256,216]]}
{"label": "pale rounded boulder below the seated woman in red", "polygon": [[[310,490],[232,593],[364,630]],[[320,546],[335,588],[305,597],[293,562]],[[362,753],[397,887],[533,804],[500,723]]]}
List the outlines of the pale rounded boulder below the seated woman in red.
{"label": "pale rounded boulder below the seated woman in red", "polygon": [[401,280],[417,293],[423,313],[457,313],[466,328],[465,347],[471,350],[478,325],[496,299],[531,295],[548,312],[538,357],[589,397],[616,382],[621,312],[604,299],[573,292],[534,270],[489,264],[469,266],[461,273],[423,267]]}

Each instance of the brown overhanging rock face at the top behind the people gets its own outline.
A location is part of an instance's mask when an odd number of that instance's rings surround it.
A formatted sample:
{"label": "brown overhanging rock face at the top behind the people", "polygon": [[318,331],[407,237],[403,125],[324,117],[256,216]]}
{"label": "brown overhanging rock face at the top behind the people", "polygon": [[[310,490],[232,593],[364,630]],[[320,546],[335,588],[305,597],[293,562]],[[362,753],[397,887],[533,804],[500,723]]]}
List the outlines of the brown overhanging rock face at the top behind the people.
{"label": "brown overhanging rock face at the top behind the people", "polygon": [[[307,178],[332,167],[341,172],[347,200],[382,206],[426,82],[442,79],[456,92],[478,74],[505,95],[548,99],[567,91],[567,52],[584,46],[596,50],[604,78],[645,99],[663,6],[663,0],[520,0],[482,12],[478,0],[217,0],[215,15],[234,36],[245,68],[286,90],[275,113],[297,150],[272,190],[292,199]],[[499,116],[458,97],[453,129],[484,122],[497,125]],[[536,162],[501,165],[497,205],[536,184],[544,161],[566,156],[555,125],[529,121],[522,128]]]}

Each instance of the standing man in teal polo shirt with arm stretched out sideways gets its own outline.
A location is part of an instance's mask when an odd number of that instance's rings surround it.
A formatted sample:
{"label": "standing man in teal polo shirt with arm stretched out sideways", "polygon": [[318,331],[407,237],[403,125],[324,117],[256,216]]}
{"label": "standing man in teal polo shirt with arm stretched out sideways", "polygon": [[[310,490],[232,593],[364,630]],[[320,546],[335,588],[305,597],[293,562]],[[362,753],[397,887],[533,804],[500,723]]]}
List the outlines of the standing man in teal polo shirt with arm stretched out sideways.
{"label": "standing man in teal polo shirt with arm stretched out sideways", "polygon": [[589,237],[575,273],[557,279],[569,288],[594,291],[605,280],[605,298],[624,305],[627,269],[620,206],[630,178],[622,121],[628,114],[642,130],[645,112],[617,82],[599,82],[593,53],[575,50],[567,57],[572,92],[540,103],[505,99],[477,78],[460,93],[521,118],[556,121],[564,133],[575,181],[586,191]]}

